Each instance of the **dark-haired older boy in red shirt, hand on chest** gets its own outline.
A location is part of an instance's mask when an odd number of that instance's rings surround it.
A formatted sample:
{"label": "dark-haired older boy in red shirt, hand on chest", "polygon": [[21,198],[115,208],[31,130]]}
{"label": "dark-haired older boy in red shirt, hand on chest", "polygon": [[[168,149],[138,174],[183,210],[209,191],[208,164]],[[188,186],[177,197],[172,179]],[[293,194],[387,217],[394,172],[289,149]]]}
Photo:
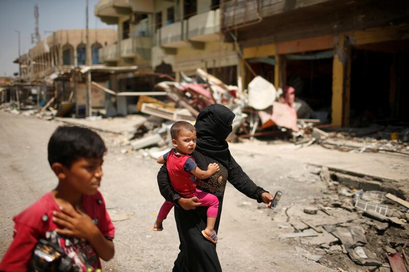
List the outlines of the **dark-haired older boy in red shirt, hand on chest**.
{"label": "dark-haired older boy in red shirt, hand on chest", "polygon": [[[61,263],[65,270],[95,271],[101,268],[99,258],[113,257],[115,228],[98,191],[105,152],[97,133],[57,128],[48,144],[48,160],[58,185],[13,218],[14,239],[0,263],[1,271],[61,269]],[[41,251],[44,243],[48,251]],[[50,247],[61,257],[54,260],[47,255]]]}

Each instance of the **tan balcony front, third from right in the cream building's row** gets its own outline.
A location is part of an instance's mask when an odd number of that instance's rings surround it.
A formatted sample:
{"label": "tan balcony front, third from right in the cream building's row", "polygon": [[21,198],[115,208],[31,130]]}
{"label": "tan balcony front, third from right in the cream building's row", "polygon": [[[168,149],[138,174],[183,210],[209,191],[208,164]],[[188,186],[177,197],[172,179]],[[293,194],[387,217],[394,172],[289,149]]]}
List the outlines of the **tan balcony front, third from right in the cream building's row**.
{"label": "tan balcony front, third from right in the cream building's row", "polygon": [[131,37],[121,41],[121,57],[150,60],[151,48],[151,37]]}

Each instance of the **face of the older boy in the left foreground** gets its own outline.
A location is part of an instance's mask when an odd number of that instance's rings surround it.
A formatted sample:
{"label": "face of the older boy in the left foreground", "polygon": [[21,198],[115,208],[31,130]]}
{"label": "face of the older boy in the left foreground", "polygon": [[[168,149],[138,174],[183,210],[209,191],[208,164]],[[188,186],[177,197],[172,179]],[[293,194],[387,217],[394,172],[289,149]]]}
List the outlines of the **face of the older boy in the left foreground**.
{"label": "face of the older boy in the left foreground", "polygon": [[80,158],[66,168],[65,181],[82,193],[93,195],[101,184],[103,158]]}

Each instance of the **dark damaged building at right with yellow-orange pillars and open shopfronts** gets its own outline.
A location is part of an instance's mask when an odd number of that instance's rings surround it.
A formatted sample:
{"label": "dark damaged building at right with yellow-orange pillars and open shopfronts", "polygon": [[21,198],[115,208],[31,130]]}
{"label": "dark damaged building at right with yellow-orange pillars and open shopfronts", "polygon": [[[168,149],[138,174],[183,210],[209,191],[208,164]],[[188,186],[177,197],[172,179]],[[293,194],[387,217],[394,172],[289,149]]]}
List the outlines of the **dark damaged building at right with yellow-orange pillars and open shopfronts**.
{"label": "dark damaged building at right with yellow-orange pillars and open shopfronts", "polygon": [[294,85],[337,126],[409,121],[408,1],[222,1],[221,30],[240,44],[243,85]]}

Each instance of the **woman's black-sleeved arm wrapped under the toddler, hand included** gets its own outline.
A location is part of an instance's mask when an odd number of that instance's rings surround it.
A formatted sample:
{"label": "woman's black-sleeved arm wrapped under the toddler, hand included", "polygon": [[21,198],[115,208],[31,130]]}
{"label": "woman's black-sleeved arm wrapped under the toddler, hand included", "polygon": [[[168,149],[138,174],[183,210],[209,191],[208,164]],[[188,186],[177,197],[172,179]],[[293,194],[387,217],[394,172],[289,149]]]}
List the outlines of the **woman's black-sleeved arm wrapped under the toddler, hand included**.
{"label": "woman's black-sleeved arm wrapped under the toddler, hand included", "polygon": [[161,169],[157,173],[157,185],[159,186],[159,191],[165,200],[172,202],[176,206],[180,206],[185,210],[196,209],[201,203],[197,201],[197,197],[191,197],[190,199],[183,198],[178,192],[176,192],[172,185],[170,185],[170,179],[168,174],[168,168],[166,164],[162,165]]}

